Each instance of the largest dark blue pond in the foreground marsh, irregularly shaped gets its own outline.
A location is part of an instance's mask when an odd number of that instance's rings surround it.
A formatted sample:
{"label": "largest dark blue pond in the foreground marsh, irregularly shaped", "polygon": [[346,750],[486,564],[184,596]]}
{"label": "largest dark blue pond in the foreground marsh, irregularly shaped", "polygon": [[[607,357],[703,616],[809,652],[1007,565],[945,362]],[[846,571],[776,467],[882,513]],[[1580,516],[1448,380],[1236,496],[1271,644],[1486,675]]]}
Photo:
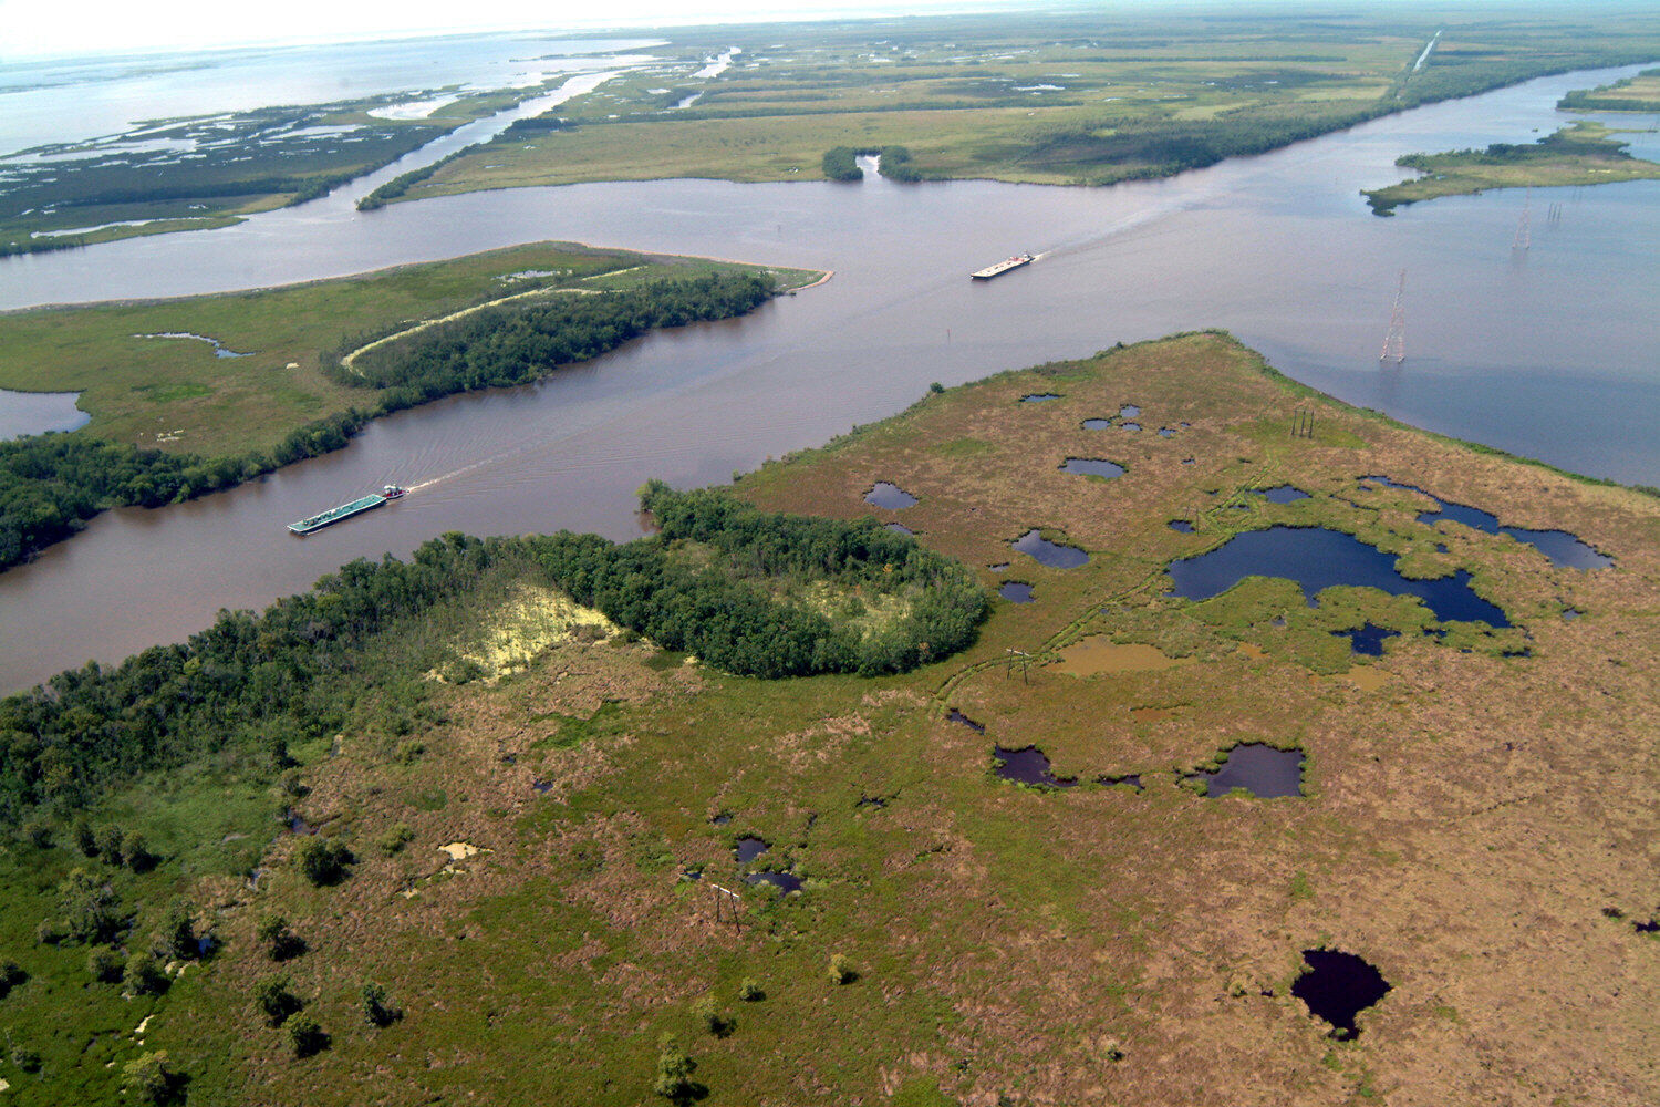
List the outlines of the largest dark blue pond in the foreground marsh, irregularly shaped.
{"label": "largest dark blue pond in the foreground marsh, irregularly shaped", "polygon": [[1459,569],[1438,581],[1408,581],[1394,571],[1394,558],[1368,546],[1353,534],[1325,526],[1272,526],[1247,531],[1197,558],[1170,563],[1175,594],[1210,599],[1247,576],[1275,576],[1296,581],[1316,606],[1321,589],[1333,584],[1376,588],[1391,596],[1418,596],[1443,622],[1486,622],[1507,627],[1504,611],[1469,588],[1469,573]]}

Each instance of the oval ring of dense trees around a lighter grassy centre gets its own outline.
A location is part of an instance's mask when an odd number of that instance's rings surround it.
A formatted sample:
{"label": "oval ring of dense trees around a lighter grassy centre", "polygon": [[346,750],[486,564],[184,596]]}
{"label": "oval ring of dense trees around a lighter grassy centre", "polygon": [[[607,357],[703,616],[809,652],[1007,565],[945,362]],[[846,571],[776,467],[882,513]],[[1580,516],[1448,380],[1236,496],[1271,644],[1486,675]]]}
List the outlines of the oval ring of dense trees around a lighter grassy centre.
{"label": "oval ring of dense trees around a lighter grassy centre", "polygon": [[986,614],[963,566],[873,519],[757,511],[661,481],[641,508],[654,538],[561,533],[531,548],[576,602],[727,672],[906,672],[968,646]]}

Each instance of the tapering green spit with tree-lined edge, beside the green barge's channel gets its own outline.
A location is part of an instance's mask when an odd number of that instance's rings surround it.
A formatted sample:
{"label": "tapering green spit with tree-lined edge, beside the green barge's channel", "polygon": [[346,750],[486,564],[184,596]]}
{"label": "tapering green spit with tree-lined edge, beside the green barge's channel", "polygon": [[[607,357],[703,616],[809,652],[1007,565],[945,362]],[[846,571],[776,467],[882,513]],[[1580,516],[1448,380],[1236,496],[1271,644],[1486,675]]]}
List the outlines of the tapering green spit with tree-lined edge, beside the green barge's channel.
{"label": "tapering green spit with tree-lined edge, beside the green barge's channel", "polygon": [[[8,315],[0,387],[85,388],[93,420],[0,443],[0,568],[106,508],[229,488],[339,450],[380,415],[533,380],[651,327],[739,315],[815,276],[541,244],[262,292]],[[164,332],[251,354],[143,337]]]}

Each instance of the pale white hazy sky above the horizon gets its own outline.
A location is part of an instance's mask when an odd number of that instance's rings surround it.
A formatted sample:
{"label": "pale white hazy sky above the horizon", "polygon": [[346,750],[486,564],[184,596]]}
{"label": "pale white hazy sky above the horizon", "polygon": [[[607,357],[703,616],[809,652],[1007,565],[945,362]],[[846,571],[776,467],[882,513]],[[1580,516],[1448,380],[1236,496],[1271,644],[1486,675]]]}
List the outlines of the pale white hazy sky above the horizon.
{"label": "pale white hazy sky above the horizon", "polygon": [[[1036,0],[0,0],[0,61],[460,32],[1054,7]],[[281,17],[281,18],[279,18]]]}

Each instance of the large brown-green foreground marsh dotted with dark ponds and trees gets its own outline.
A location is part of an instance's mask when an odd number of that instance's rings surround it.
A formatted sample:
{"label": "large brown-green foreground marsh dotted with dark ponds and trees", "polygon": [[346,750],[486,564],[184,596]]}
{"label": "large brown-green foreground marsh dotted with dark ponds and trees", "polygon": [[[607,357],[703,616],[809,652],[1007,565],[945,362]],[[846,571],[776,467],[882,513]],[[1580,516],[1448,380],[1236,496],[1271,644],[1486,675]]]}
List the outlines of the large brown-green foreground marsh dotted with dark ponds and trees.
{"label": "large brown-green foreground marsh dotted with dark ponds and trees", "polygon": [[[1660,1099],[1655,496],[1213,332],[644,496],[639,546],[452,534],[0,700],[8,1102]],[[1172,593],[1262,534],[1486,614]],[[1250,750],[1290,795],[1204,793]]]}

